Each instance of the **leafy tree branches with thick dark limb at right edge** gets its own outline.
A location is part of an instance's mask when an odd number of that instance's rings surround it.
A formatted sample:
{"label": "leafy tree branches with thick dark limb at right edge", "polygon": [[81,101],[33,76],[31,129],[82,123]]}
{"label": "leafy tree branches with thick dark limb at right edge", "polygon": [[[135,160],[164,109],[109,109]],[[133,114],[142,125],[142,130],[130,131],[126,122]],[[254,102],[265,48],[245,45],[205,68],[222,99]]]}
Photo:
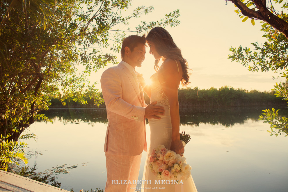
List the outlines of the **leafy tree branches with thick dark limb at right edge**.
{"label": "leafy tree branches with thick dark limb at right edge", "polygon": [[[257,42],[251,43],[253,45],[254,51],[250,48],[230,48],[232,54],[228,58],[232,61],[237,61],[243,66],[248,67],[248,70],[255,72],[261,70],[273,71],[278,74],[278,77],[285,77],[286,82],[276,83],[273,90],[275,91],[276,97],[282,97],[285,101],[288,100],[288,15],[284,13],[287,12],[288,2],[283,2],[283,0],[254,0],[254,1],[239,1],[231,0],[237,6],[235,12],[239,14],[240,17],[246,15],[252,19],[262,20],[262,29],[264,32],[262,37],[266,38],[266,42],[263,45],[259,45]],[[274,4],[273,4],[273,3]],[[282,4],[281,13],[278,13],[276,6]],[[248,8],[248,7],[252,8]],[[243,19],[244,20],[244,19]],[[275,77],[273,77],[275,78]],[[288,120],[285,117],[278,117],[278,111],[275,109],[266,109],[265,113],[260,115],[260,120],[268,122],[271,124],[271,129],[278,129],[278,131],[273,131],[276,136],[281,134],[281,132],[286,133],[288,136]],[[273,135],[273,133],[271,133]]]}

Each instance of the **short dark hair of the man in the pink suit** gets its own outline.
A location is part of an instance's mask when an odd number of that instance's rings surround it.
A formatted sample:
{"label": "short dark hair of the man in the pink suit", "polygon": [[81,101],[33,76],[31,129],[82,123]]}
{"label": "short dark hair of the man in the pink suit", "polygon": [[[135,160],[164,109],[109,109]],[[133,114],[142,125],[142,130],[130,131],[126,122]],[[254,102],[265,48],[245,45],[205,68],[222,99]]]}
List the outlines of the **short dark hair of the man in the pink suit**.
{"label": "short dark hair of the man in the pink suit", "polygon": [[125,55],[125,47],[129,47],[129,49],[133,51],[133,49],[137,47],[138,43],[145,45],[146,43],[145,35],[143,36],[129,35],[128,37],[126,37],[122,42],[121,58],[123,59]]}

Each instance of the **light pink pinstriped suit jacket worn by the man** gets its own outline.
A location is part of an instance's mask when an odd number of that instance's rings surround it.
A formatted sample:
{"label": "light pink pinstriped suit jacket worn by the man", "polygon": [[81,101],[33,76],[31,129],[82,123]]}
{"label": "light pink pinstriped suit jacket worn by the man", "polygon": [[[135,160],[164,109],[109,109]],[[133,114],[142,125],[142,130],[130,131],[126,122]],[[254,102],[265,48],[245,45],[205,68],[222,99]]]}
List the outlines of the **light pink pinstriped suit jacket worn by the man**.
{"label": "light pink pinstriped suit jacket worn by the man", "polygon": [[129,69],[119,63],[104,71],[100,81],[109,122],[104,151],[127,156],[147,151],[144,95]]}

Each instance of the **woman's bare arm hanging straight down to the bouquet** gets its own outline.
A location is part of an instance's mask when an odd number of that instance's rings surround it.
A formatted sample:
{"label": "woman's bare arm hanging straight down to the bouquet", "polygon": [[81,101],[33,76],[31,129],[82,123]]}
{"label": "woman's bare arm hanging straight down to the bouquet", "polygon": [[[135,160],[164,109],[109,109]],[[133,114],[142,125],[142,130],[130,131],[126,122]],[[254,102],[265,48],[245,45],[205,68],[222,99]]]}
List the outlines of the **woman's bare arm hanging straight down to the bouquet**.
{"label": "woman's bare arm hanging straight down to the bouquet", "polygon": [[[172,123],[172,141],[170,150],[175,151],[177,154],[184,153],[184,146],[179,136],[179,103],[178,103],[178,87],[179,75],[177,72],[177,65],[174,60],[167,59],[163,63],[163,77],[166,83],[162,85],[162,89],[168,97],[170,105],[170,116]],[[183,155],[183,154],[182,154]],[[181,156],[182,156],[181,155]]]}

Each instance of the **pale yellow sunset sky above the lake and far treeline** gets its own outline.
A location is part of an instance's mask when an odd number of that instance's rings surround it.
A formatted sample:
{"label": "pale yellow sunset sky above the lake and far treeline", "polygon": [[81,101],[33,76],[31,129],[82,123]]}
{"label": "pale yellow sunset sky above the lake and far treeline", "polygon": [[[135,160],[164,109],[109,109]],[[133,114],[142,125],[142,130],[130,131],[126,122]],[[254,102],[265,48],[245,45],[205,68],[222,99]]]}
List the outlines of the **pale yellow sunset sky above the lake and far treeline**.
{"label": "pale yellow sunset sky above the lake and far treeline", "polygon": [[[181,24],[175,28],[165,27],[165,29],[182,50],[183,57],[188,60],[189,68],[193,70],[189,87],[209,89],[227,85],[233,88],[269,91],[275,82],[285,81],[284,78],[273,80],[272,76],[277,76],[273,72],[253,73],[240,63],[227,59],[228,54],[231,53],[229,51],[231,46],[241,45],[252,48],[253,45],[250,43],[258,42],[261,45],[265,41],[262,38],[264,33],[260,31],[259,21],[255,20],[255,26],[251,24],[251,19],[242,23],[242,19],[239,19],[234,12],[236,9],[234,4],[228,2],[225,5],[224,0],[175,2],[175,0],[134,0],[132,7],[125,13],[132,12],[138,6],[152,5],[154,11],[140,19],[150,22],[164,17],[166,13],[173,12],[173,10],[180,10]],[[131,30],[134,29],[132,26],[138,25],[140,20],[130,21]],[[126,26],[120,26],[120,30],[126,28]],[[130,35],[130,33],[127,34]],[[120,62],[120,54],[116,56]],[[108,67],[111,66],[111,64],[108,65]],[[97,88],[100,91],[100,77],[108,67],[98,70],[96,74],[92,73],[90,77],[92,82],[99,82]],[[148,80],[155,72],[153,67],[154,58],[147,48],[142,67],[136,67],[136,71],[142,73],[143,77]]]}

